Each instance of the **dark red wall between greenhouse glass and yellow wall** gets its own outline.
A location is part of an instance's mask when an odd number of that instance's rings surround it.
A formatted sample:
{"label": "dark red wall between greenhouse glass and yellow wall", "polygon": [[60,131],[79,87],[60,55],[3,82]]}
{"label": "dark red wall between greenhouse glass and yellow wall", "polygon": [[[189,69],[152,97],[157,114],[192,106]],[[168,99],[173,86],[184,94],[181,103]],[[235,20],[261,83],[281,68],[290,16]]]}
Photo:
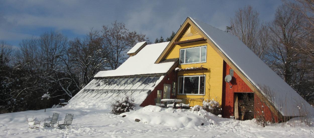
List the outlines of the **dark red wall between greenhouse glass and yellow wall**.
{"label": "dark red wall between greenhouse glass and yellow wall", "polygon": [[[157,98],[157,90],[161,90],[162,91],[161,94],[164,95],[164,84],[172,85],[172,82],[177,82],[177,72],[175,71],[172,71],[168,75],[166,75],[164,79],[155,87],[155,89],[148,95],[148,97],[143,101],[143,103],[140,106],[144,107],[147,105],[155,105],[154,99]],[[174,99],[176,98],[176,96],[170,96],[170,98]]]}

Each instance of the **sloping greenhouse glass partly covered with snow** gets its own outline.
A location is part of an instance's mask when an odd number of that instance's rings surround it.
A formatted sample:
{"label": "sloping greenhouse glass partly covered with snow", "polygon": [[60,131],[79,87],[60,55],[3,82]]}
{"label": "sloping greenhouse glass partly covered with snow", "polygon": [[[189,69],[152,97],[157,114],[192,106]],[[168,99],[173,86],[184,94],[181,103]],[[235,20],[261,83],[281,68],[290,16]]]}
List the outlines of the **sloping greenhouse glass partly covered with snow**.
{"label": "sloping greenhouse glass partly covered with snow", "polygon": [[107,109],[119,95],[132,95],[139,105],[163,78],[162,75],[95,78],[70,100],[68,107]]}

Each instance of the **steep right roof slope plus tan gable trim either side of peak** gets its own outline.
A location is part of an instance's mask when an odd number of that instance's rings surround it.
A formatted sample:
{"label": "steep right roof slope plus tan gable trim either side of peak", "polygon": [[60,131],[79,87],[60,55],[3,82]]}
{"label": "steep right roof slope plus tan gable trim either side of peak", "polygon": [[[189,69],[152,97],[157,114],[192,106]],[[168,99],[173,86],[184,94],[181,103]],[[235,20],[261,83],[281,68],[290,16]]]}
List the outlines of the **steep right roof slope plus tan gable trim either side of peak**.
{"label": "steep right roof slope plus tan gable trim either side of peak", "polygon": [[[234,72],[236,72],[256,94],[263,95],[266,98],[272,98],[269,100],[269,102],[272,102],[272,106],[270,107],[272,111],[277,110],[283,116],[301,116],[304,115],[304,113],[298,112],[297,103],[303,103],[306,109],[311,110],[309,112],[314,113],[311,105],[261,61],[236,36],[190,17],[185,20],[174,39],[171,40],[156,60],[156,63],[165,59],[174,47],[173,43],[181,39],[182,34],[189,25],[196,29],[208,44],[214,44],[213,48],[219,56],[234,69]],[[243,55],[243,53],[245,53],[245,55]],[[268,94],[265,93],[265,89],[263,90],[262,87],[269,87],[273,92],[273,97],[268,96]]]}

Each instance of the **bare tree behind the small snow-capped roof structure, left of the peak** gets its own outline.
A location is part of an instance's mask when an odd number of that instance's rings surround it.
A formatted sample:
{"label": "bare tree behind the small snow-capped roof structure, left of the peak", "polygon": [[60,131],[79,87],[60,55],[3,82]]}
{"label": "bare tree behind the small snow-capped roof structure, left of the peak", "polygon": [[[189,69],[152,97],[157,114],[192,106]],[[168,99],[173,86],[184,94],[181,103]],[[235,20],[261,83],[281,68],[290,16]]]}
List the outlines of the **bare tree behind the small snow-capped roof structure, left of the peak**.
{"label": "bare tree behind the small snow-capped roof structure, left of the peak", "polygon": [[127,58],[126,52],[137,42],[148,40],[144,34],[130,32],[124,23],[115,21],[109,26],[103,26],[103,43],[108,52],[107,59],[111,69],[119,67]]}

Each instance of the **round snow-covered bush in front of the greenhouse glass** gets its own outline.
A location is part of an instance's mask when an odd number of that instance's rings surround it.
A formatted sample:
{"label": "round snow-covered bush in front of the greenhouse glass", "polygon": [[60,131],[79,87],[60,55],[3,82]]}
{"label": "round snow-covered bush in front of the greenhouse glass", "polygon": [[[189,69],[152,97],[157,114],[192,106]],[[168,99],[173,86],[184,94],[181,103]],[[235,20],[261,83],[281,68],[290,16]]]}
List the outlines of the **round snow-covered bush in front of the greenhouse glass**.
{"label": "round snow-covered bush in front of the greenhouse glass", "polygon": [[134,109],[134,98],[131,95],[119,96],[111,103],[111,112],[113,114],[122,114]]}

